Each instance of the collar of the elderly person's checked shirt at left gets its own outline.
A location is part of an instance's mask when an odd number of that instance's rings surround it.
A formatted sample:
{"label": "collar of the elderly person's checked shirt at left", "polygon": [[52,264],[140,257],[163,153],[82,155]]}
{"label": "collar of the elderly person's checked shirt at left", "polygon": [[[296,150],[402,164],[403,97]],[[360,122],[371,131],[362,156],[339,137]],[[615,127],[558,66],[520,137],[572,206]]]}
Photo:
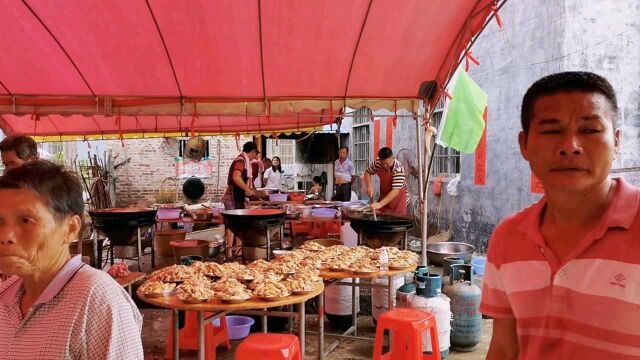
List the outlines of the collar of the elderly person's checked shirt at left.
{"label": "collar of the elderly person's checked shirt at left", "polygon": [[[44,304],[53,300],[53,298],[62,291],[62,288],[69,282],[69,280],[71,280],[73,275],[75,275],[83,265],[80,255],[76,255],[69,259],[53,280],[51,280],[49,285],[47,285],[42,294],[40,294],[40,297],[36,300],[34,305]],[[18,279],[13,284],[9,285],[2,294],[0,294],[0,303],[6,306],[14,304],[21,290],[22,279]]]}

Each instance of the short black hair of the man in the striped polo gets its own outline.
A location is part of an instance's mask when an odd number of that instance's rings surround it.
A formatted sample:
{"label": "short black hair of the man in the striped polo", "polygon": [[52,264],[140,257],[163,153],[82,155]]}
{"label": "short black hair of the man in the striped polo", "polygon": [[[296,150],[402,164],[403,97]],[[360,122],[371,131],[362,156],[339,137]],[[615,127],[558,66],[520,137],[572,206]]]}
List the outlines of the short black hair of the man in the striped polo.
{"label": "short black hair of the man in the striped polo", "polygon": [[587,71],[567,71],[557,74],[547,75],[531,85],[522,98],[522,110],[520,112],[520,122],[522,131],[529,132],[533,104],[543,96],[552,95],[559,92],[595,92],[604,95],[609,100],[613,110],[613,128],[616,128],[616,116],[618,114],[618,100],[611,83],[604,77]]}

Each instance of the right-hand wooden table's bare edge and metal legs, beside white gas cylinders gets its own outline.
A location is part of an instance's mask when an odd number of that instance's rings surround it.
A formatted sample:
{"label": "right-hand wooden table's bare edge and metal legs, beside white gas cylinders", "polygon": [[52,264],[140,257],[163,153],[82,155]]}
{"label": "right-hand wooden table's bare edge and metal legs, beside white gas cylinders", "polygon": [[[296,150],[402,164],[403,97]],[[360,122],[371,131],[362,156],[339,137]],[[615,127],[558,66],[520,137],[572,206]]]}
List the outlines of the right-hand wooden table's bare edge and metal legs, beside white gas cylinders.
{"label": "right-hand wooden table's bare edge and metal legs, beside white gas cylinders", "polygon": [[[358,337],[358,312],[356,311],[356,287],[370,287],[370,288],[383,288],[384,285],[376,285],[376,284],[363,284],[361,282],[356,282],[355,279],[378,279],[382,277],[387,277],[387,306],[388,311],[393,309],[393,277],[396,275],[406,274],[408,272],[413,272],[416,269],[417,265],[412,265],[402,269],[395,269],[389,271],[378,271],[370,274],[355,274],[348,271],[329,271],[324,270],[320,271],[320,277],[324,279],[325,286],[329,286],[331,284],[340,285],[340,286],[351,286],[351,321],[352,325],[349,329],[343,332],[340,335],[336,335],[338,338],[353,338],[358,340],[371,340],[363,337]],[[351,282],[343,282],[344,279],[351,279]],[[325,356],[329,355],[331,351],[333,351],[339,344],[340,340],[336,340],[331,343],[327,349],[324,349],[324,294],[319,297],[319,309],[318,310],[318,335],[320,337],[318,344],[318,359],[324,359]],[[353,333],[353,336],[351,336]]]}

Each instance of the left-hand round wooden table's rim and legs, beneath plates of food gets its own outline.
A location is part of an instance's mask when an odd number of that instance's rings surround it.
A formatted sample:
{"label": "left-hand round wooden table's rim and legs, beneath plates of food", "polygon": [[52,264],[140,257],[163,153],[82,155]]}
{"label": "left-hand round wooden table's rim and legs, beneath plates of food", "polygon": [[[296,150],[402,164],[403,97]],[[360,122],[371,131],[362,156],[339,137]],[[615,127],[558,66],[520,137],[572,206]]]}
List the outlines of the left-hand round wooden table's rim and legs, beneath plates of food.
{"label": "left-hand round wooden table's rim and legs, beneath plates of food", "polygon": [[[324,284],[319,283],[318,286],[310,293],[306,295],[291,295],[279,301],[265,301],[259,299],[257,297],[253,297],[248,301],[239,303],[239,304],[227,304],[219,299],[211,299],[205,303],[201,304],[185,304],[181,302],[175,294],[171,294],[165,297],[158,298],[150,298],[146,297],[140,291],[138,291],[138,296],[144,302],[149,304],[153,304],[156,306],[160,306],[167,309],[173,310],[173,358],[178,359],[180,356],[180,347],[178,344],[179,336],[178,336],[178,311],[179,310],[188,310],[188,311],[197,311],[198,312],[198,359],[204,360],[205,347],[204,347],[204,326],[209,321],[213,321],[218,319],[228,313],[231,312],[240,312],[244,314],[250,315],[261,315],[262,316],[262,331],[267,332],[267,315],[269,316],[278,316],[278,317],[297,317],[300,326],[299,326],[299,339],[300,339],[300,351],[303,354],[305,353],[305,303],[307,300],[312,299],[318,295],[321,295],[324,291]],[[322,299],[322,296],[320,296]],[[321,300],[322,301],[322,300]],[[289,311],[280,311],[280,312],[267,312],[268,308],[278,307],[278,306],[286,306],[286,305],[296,305],[298,304],[298,312],[289,312]],[[258,311],[254,311],[258,310]],[[213,313],[212,316],[205,318],[205,312]],[[318,314],[318,319],[322,319],[322,314]],[[318,335],[318,345],[322,341],[322,335]]]}

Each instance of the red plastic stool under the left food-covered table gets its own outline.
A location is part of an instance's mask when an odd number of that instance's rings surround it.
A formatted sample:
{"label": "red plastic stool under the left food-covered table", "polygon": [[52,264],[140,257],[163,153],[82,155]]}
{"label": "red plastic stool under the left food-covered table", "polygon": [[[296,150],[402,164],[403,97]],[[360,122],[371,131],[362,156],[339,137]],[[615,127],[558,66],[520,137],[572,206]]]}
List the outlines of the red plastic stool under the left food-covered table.
{"label": "red plastic stool under the left food-covered table", "polygon": [[[184,327],[178,333],[178,345],[180,349],[198,350],[198,312],[185,311]],[[205,313],[205,317],[211,313]],[[224,344],[227,349],[231,349],[229,335],[227,334],[227,319],[220,317],[220,326],[213,326],[211,322],[204,326],[204,348],[207,360],[216,360],[216,348]],[[173,359],[173,316],[169,321],[169,334],[167,335],[167,359]]]}

